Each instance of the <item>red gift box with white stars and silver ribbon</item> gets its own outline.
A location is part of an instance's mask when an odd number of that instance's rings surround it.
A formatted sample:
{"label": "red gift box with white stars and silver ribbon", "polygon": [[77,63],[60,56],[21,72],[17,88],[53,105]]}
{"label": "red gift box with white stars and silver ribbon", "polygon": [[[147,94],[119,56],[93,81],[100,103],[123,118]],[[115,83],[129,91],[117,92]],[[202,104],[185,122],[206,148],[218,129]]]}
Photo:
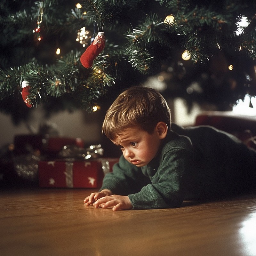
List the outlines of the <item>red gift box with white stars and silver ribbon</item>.
{"label": "red gift box with white stars and silver ribbon", "polygon": [[44,188],[99,188],[106,173],[118,158],[99,158],[87,161],[40,161],[39,186]]}

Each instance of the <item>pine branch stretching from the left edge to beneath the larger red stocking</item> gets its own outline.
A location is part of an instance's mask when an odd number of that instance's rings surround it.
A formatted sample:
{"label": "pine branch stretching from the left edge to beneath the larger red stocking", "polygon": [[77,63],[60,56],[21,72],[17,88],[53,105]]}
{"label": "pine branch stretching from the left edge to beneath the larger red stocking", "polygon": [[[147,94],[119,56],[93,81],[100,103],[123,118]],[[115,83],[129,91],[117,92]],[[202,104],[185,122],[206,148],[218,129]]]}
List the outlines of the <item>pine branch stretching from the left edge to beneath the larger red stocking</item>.
{"label": "pine branch stretching from the left edge to beneath the larger red stocking", "polygon": [[34,106],[48,102],[52,97],[59,98],[69,94],[82,109],[91,110],[98,98],[121,77],[117,68],[124,64],[121,60],[123,57],[120,53],[105,57],[101,54],[91,70],[82,67],[80,54],[70,52],[51,66],[28,63],[11,70],[0,70],[0,92],[4,92],[1,100],[11,95],[19,97],[21,83],[27,81],[30,87],[28,102]]}

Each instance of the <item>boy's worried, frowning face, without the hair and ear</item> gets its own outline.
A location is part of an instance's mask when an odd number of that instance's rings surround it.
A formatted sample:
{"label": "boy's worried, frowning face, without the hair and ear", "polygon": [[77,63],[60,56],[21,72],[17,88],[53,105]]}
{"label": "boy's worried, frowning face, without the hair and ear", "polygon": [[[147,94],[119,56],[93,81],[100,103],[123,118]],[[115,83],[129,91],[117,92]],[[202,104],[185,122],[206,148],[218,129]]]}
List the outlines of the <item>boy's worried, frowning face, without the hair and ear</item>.
{"label": "boy's worried, frowning face, without the hair and ear", "polygon": [[157,154],[161,144],[157,129],[152,134],[135,126],[126,128],[112,142],[123,151],[124,158],[138,167],[147,165]]}

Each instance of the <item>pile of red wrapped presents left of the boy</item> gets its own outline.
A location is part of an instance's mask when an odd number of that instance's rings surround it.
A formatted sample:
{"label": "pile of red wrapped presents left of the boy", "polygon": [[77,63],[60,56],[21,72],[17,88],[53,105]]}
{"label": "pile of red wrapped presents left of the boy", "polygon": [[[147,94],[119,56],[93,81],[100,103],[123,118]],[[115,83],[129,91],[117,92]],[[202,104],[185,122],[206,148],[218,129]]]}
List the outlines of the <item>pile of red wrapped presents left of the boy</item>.
{"label": "pile of red wrapped presents left of the boy", "polygon": [[117,158],[104,158],[101,145],[79,138],[16,135],[1,150],[0,185],[42,188],[99,188]]}

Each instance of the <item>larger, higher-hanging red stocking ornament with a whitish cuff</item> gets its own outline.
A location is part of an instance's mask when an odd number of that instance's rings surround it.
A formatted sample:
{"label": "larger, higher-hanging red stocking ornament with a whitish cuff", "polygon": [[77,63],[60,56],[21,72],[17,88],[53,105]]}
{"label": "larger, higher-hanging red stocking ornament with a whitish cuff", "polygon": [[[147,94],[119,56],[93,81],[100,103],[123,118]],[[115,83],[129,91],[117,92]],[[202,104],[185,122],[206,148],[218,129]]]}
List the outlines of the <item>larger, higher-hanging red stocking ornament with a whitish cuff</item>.
{"label": "larger, higher-hanging red stocking ornament with a whitish cuff", "polygon": [[99,53],[105,47],[105,36],[104,32],[99,32],[93,40],[92,44],[89,45],[85,52],[81,55],[80,61],[84,68],[91,68],[93,60],[99,55]]}

